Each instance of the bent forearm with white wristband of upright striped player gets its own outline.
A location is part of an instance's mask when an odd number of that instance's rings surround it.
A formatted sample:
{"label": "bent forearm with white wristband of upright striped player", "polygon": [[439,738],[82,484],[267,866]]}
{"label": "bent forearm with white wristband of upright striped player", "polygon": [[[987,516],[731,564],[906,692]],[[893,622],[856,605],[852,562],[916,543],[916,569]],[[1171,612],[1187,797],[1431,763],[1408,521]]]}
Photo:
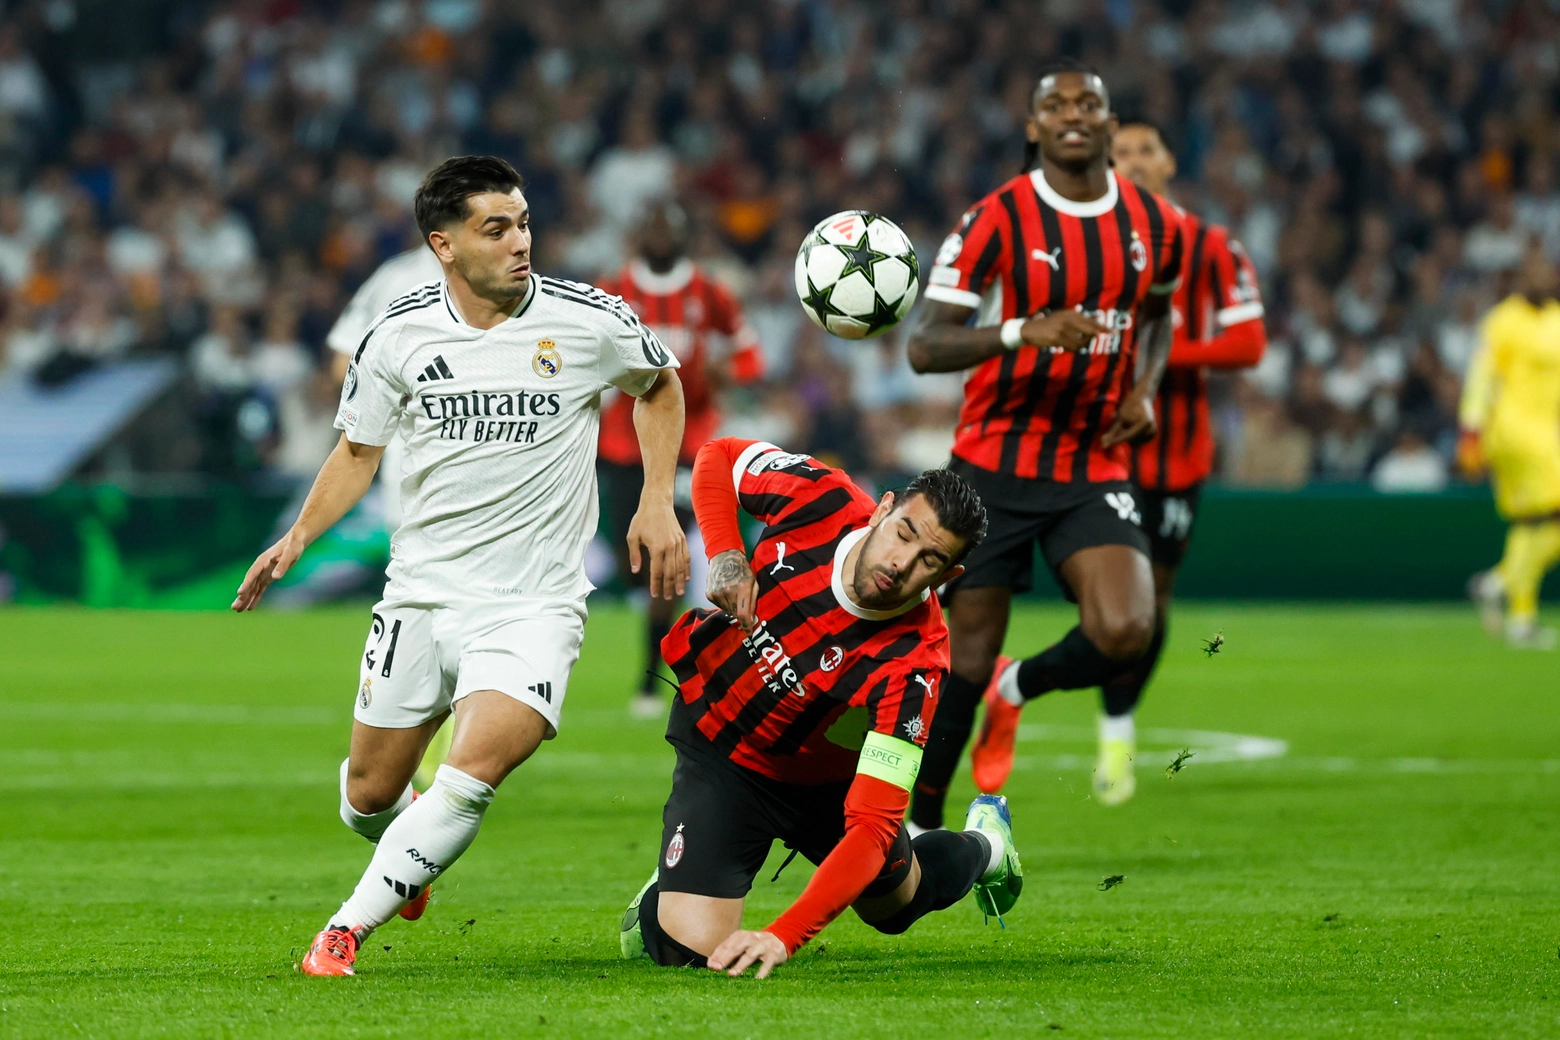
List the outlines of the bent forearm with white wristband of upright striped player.
{"label": "bent forearm with white wristband of upright striped player", "polygon": [[909,334],[909,366],[917,373],[958,373],[1020,346],[1084,351],[1097,335],[1106,332],[1104,326],[1076,310],[1012,318],[981,327],[967,324],[972,313],[973,309],[959,304],[927,301],[920,324]]}

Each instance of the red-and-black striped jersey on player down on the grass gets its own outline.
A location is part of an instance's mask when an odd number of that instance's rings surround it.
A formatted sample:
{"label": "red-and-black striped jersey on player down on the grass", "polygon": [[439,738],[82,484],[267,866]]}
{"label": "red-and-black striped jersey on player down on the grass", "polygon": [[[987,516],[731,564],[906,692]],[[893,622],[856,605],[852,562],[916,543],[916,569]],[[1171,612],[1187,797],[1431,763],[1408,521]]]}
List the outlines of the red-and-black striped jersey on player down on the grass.
{"label": "red-and-black striped jersey on player down on the grass", "polygon": [[764,522],[750,557],[758,624],[744,633],[724,611],[693,610],[672,625],[668,739],[697,731],[738,766],[800,784],[850,780],[867,731],[925,745],[948,667],[936,594],[877,611],[846,593],[846,555],[877,504],[839,469],[774,444],[747,446],[732,476]]}

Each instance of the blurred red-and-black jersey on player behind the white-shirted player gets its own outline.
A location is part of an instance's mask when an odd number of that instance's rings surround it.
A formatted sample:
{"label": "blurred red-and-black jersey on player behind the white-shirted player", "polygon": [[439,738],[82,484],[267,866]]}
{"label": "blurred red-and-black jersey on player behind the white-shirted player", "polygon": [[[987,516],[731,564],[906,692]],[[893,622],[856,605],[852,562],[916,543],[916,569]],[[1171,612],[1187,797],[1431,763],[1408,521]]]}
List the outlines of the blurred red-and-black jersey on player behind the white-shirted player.
{"label": "blurred red-and-black jersey on player behind the white-shirted player", "polygon": [[[632,260],[616,278],[601,282],[601,288],[622,296],[682,365],[677,377],[685,419],[679,458],[691,463],[721,426],[710,368],[730,362],[736,382],[752,382],[764,373],[758,335],[743,317],[743,304],[686,257],[665,274],[644,260]],[[633,398],[619,394],[602,410],[599,451],[607,462],[640,462]]]}

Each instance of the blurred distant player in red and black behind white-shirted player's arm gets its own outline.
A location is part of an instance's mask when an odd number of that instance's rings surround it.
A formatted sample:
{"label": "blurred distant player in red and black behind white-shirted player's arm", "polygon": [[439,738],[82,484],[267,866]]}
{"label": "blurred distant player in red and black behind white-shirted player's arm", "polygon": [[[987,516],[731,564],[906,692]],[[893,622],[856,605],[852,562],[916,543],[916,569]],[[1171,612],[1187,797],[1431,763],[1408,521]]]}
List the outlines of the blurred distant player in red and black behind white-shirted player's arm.
{"label": "blurred distant player in red and black behind white-shirted player's arm", "polygon": [[[721,426],[721,388],[763,377],[764,357],[758,349],[758,334],[743,318],[743,304],[725,285],[688,259],[688,218],[675,203],[652,204],[636,229],[635,242],[638,256],[601,287],[622,296],[682,365],[679,377],[686,421],[677,455],[677,518],[688,532],[693,560],[702,566],[699,529],[693,522],[693,504],[688,499],[693,460]],[[640,438],[633,432],[633,398],[627,394],[616,394],[602,409],[596,472],[612,544],[618,552],[618,571],[643,586],[644,575],[632,574],[627,566],[629,521],[633,519],[640,490],[644,486]],[[694,574],[690,586],[702,585],[704,575]],[[665,686],[655,680],[654,670],[660,666],[661,639],[675,616],[675,602],[651,597],[646,607],[646,672],[638,695],[630,702],[633,714],[641,719],[665,714],[660,695]]]}

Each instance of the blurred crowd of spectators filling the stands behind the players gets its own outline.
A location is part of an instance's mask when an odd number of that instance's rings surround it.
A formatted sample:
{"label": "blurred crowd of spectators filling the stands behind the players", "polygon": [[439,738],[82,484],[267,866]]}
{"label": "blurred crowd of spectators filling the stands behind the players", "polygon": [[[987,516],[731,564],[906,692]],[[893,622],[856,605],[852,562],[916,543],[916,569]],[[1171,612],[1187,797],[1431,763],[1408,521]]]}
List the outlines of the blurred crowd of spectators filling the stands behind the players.
{"label": "blurred crowd of spectators filling the stands behind the players", "polygon": [[677,196],[768,357],[729,426],[855,472],[936,465],[958,377],[913,376],[899,335],[810,326],[794,249],[870,209],[925,273],[1017,172],[1036,69],[1062,53],[1165,129],[1176,200],[1260,273],[1271,346],[1217,380],[1226,482],[1445,485],[1479,315],[1529,237],[1560,257],[1543,0],[126,6],[0,23],[0,370],[183,359],[187,415],[137,447],[151,471],[314,474],[324,334],[415,245],[412,193],[457,153],[526,175],[548,273],[616,270],[641,206]]}

